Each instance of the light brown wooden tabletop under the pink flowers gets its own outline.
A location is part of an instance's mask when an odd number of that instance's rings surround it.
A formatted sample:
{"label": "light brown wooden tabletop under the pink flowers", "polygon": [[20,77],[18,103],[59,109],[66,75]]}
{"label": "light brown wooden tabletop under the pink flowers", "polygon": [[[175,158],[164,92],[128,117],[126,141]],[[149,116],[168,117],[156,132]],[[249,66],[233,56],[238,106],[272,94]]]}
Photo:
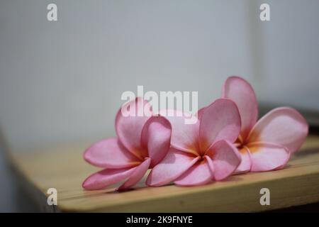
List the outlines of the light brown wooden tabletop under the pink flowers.
{"label": "light brown wooden tabletop under the pink flowers", "polygon": [[[13,170],[43,211],[247,212],[319,201],[319,136],[315,135],[308,136],[284,170],[234,175],[200,187],[169,185],[121,193],[82,189],[85,177],[99,170],[82,159],[87,145],[9,154]],[[264,187],[270,190],[269,206],[259,203]],[[49,188],[57,189],[57,206],[47,205]]]}

